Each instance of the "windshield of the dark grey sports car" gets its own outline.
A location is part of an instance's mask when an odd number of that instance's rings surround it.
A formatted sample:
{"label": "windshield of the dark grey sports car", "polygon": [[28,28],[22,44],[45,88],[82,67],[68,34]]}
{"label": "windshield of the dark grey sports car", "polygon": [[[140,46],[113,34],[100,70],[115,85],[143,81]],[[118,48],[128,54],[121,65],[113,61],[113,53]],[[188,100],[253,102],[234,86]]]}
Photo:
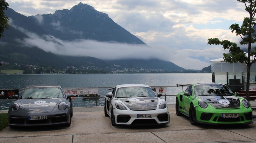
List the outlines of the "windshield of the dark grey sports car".
{"label": "windshield of the dark grey sports car", "polygon": [[21,99],[64,98],[59,87],[31,87],[24,90]]}

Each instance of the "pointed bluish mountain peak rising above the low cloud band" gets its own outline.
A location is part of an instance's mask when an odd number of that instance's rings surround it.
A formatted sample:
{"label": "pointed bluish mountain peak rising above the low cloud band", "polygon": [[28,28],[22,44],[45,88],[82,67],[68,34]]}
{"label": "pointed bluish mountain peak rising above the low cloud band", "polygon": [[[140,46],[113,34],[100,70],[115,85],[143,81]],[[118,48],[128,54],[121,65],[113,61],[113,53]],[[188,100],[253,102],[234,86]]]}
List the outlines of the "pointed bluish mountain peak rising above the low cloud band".
{"label": "pointed bluish mountain peak rising above the low cloud band", "polygon": [[91,39],[145,44],[136,36],[116,24],[108,14],[96,11],[87,4],[75,5],[70,10],[57,10],[53,14],[29,16],[47,34],[62,40]]}

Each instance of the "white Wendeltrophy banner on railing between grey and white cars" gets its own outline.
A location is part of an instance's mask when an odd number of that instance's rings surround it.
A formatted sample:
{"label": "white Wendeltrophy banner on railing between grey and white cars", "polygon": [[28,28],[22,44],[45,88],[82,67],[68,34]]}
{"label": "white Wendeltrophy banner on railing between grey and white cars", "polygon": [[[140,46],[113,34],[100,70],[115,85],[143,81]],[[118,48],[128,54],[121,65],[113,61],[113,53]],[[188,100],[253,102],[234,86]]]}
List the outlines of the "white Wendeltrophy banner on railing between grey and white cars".
{"label": "white Wendeltrophy banner on railing between grey and white cars", "polygon": [[88,87],[88,88],[62,88],[65,93],[70,93],[74,95],[97,95],[98,88],[97,87]]}

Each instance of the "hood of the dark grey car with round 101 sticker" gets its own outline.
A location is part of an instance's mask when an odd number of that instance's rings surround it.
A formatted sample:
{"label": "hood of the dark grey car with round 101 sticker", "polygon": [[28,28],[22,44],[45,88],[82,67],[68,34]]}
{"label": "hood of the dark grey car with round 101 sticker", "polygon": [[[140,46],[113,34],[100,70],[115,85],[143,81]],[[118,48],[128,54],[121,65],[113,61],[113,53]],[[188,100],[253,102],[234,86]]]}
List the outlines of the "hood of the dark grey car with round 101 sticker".
{"label": "hood of the dark grey car with round 101 sticker", "polygon": [[25,113],[49,113],[61,99],[21,99],[20,102]]}

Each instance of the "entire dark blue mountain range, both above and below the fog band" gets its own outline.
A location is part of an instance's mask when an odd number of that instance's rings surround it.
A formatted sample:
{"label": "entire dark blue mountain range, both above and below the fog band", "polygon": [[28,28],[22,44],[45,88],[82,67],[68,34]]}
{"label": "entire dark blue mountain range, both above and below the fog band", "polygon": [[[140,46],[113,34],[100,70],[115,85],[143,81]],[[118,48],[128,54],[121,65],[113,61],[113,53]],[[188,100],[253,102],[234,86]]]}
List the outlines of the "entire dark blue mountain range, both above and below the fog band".
{"label": "entire dark blue mountain range, both above and below the fog band", "polygon": [[[24,42],[25,39],[30,40],[36,36],[40,40],[58,43],[58,45],[62,45],[62,43],[55,39],[65,42],[87,39],[100,42],[146,45],[139,38],[116,24],[107,14],[96,11],[87,4],[79,3],[70,10],[57,10],[53,14],[38,14],[29,17],[17,13],[11,8],[4,12],[10,19],[10,26],[8,30],[4,31],[4,37],[0,38],[0,61],[59,68],[65,68],[68,65],[109,68],[113,64],[118,64],[124,68],[165,69],[168,71],[184,69],[172,62],[158,59],[104,61],[91,56],[61,56]],[[43,46],[47,47],[48,45],[46,43]],[[69,48],[72,49],[72,46]],[[59,47],[56,49],[61,50]]]}

